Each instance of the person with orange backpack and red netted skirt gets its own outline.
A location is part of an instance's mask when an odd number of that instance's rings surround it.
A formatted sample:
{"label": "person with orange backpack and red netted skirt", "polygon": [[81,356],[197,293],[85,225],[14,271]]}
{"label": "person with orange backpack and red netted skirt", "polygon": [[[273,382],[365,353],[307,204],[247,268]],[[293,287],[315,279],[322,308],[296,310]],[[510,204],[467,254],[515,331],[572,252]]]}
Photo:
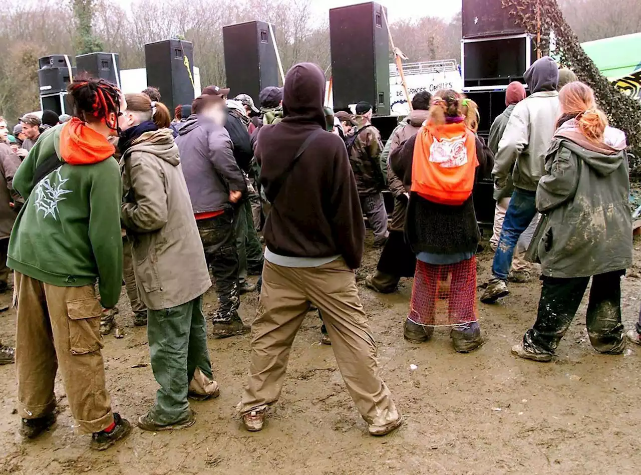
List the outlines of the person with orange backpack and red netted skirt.
{"label": "person with orange backpack and red netted skirt", "polygon": [[[454,90],[437,92],[426,123],[390,162],[410,192],[405,237],[417,256],[404,338],[425,342],[435,327],[448,326],[454,349],[469,353],[483,344],[476,312],[481,234],[472,190],[494,160],[467,126],[462,101]],[[447,301],[442,312],[440,300]]]}

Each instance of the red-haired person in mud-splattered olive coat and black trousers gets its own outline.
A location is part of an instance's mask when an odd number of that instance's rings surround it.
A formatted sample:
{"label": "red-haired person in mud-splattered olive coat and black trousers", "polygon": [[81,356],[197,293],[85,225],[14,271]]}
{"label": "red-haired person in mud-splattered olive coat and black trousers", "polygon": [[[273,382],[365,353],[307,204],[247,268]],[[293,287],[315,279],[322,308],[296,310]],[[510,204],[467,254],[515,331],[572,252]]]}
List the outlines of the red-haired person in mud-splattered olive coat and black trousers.
{"label": "red-haired person in mud-splattered olive coat and black trousers", "polygon": [[549,362],[592,279],[586,326],[596,351],[626,348],[621,278],[632,265],[632,218],[625,141],[608,144],[606,115],[578,81],[559,93],[561,117],[537,188],[544,215],[534,243],[542,267],[537,321],[512,348],[520,358]]}

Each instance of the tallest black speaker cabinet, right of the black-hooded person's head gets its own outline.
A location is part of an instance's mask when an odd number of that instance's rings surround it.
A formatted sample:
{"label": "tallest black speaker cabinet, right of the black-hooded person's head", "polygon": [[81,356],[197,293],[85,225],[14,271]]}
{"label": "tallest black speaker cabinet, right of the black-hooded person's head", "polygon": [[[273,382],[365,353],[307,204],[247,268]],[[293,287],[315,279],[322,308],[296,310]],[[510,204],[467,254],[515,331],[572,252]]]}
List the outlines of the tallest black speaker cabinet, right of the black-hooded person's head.
{"label": "tallest black speaker cabinet, right of the black-hooded person's head", "polygon": [[367,2],[329,10],[337,110],[367,101],[377,115],[390,114],[390,49],[383,8],[376,2]]}

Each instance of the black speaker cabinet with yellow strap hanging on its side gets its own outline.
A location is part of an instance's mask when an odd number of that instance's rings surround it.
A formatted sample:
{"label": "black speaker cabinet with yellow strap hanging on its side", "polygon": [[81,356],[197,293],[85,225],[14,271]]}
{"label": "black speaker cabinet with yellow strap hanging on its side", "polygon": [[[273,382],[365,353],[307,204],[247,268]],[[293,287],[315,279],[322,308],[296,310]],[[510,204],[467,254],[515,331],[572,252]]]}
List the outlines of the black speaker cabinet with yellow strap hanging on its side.
{"label": "black speaker cabinet with yellow strap hanging on its side", "polygon": [[170,111],[194,101],[194,45],[183,40],[145,44],[147,86],[160,90]]}

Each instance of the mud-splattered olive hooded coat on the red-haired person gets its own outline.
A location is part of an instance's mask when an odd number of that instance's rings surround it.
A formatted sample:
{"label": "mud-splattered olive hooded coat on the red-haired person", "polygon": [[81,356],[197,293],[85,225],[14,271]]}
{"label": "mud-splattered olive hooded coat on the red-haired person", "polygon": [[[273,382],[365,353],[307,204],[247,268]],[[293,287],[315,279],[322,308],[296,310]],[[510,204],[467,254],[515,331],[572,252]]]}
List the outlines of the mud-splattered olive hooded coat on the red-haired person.
{"label": "mud-splattered olive hooded coat on the red-haired person", "polygon": [[544,276],[587,277],[632,264],[628,157],[555,137],[537,188],[545,215],[533,242]]}

